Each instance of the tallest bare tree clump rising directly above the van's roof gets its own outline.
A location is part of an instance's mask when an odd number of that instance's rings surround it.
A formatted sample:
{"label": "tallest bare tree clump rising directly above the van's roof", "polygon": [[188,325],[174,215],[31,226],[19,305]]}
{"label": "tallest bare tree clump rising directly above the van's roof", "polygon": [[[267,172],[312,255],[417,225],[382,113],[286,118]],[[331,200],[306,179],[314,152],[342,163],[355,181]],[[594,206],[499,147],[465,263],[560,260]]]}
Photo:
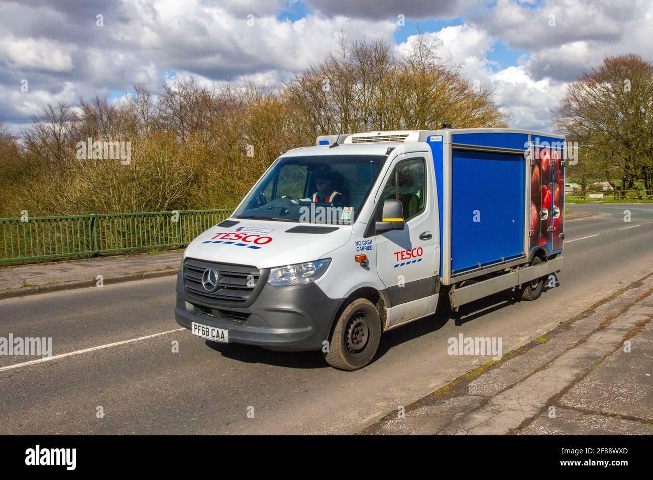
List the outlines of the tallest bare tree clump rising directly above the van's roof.
{"label": "tallest bare tree clump rising directly above the van's roof", "polygon": [[394,56],[383,41],[350,42],[298,74],[283,95],[293,114],[325,133],[366,130],[505,127],[492,90],[472,88],[460,69],[441,61],[437,45],[423,35],[406,57]]}

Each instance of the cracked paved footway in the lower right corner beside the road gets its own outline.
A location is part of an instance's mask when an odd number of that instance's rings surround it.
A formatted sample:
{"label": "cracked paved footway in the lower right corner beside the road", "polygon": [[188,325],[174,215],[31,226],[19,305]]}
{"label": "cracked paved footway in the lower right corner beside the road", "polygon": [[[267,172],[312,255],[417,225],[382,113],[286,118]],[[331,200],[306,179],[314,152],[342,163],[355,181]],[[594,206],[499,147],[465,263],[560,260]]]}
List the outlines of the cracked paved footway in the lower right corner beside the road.
{"label": "cracked paved footway in the lower right corner beside the road", "polygon": [[653,434],[653,274],[367,434]]}

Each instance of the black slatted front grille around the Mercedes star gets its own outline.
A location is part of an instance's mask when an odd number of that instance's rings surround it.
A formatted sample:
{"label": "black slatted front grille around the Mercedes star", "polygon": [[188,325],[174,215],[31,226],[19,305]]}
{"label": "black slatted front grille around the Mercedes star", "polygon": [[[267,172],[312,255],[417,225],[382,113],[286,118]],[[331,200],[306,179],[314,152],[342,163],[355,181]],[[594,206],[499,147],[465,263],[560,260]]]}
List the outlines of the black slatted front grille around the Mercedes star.
{"label": "black slatted front grille around the Mercedes star", "polygon": [[[207,268],[217,272],[217,289],[213,292],[206,291],[202,286],[202,275]],[[266,277],[266,271],[255,266],[197,259],[185,259],[183,262],[183,288],[191,300],[199,300],[209,306],[251,304],[263,288]]]}

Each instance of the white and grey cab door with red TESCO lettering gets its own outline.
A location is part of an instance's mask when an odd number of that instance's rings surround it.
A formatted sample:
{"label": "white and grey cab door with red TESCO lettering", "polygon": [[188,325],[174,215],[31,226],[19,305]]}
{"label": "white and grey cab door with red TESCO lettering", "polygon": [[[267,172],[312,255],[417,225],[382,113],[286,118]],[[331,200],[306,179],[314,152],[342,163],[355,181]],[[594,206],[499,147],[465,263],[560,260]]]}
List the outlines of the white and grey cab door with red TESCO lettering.
{"label": "white and grey cab door with red TESCO lettering", "polygon": [[388,327],[396,327],[435,311],[438,302],[439,232],[435,179],[427,155],[395,159],[379,190],[375,220],[386,199],[404,208],[404,229],[376,234],[377,272],[390,298]]}

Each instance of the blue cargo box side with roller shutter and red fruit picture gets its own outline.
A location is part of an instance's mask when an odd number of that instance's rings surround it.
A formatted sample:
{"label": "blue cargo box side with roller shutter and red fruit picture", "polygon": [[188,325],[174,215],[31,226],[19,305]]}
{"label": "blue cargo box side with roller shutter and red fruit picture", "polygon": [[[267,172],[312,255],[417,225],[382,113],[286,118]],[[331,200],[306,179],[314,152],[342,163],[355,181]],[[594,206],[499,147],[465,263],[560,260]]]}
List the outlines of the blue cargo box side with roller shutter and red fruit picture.
{"label": "blue cargo box side with roller shutter and red fruit picture", "polygon": [[[421,131],[419,141],[428,144],[436,172],[444,285],[526,263],[537,249],[547,255],[562,252],[564,136],[442,129]],[[558,159],[544,168],[544,179],[541,150]],[[542,208],[548,215],[541,220]],[[560,215],[554,219],[556,209]]]}

